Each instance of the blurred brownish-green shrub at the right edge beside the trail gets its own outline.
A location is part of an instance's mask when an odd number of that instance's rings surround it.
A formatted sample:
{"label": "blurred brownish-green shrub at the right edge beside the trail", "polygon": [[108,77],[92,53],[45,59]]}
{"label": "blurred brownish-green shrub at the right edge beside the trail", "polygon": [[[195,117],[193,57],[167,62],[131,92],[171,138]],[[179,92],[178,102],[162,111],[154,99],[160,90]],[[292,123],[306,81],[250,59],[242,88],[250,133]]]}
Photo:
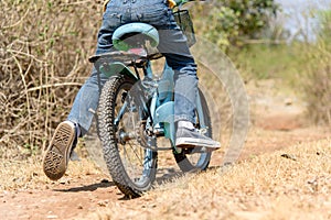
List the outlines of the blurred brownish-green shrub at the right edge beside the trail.
{"label": "blurred brownish-green shrub at the right edge beside the trail", "polygon": [[331,124],[331,54],[322,42],[310,54],[303,89],[307,117],[317,124]]}

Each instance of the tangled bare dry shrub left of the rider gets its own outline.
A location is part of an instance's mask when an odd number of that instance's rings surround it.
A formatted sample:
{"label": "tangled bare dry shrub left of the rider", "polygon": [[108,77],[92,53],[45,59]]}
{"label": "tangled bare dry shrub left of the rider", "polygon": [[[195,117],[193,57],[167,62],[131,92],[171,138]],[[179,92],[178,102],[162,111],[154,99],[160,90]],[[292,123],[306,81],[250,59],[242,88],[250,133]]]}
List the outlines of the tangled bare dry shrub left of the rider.
{"label": "tangled bare dry shrub left of the rider", "polygon": [[[90,70],[102,2],[0,1],[0,156],[40,150]],[[6,156],[6,155],[4,155]]]}

